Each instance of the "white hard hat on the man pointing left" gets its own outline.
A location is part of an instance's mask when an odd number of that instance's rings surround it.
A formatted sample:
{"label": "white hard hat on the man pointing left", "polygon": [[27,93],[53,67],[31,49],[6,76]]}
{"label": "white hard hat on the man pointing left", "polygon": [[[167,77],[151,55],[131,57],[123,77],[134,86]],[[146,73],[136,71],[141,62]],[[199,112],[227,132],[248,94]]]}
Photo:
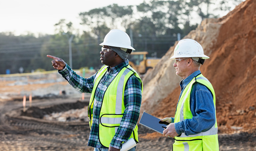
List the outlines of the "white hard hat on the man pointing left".
{"label": "white hard hat on the man pointing left", "polygon": [[[119,30],[119,29],[112,29],[110,32],[105,36],[103,43],[100,45],[108,45],[114,47],[127,48],[131,50],[135,50],[131,47],[131,39],[126,34],[126,32]],[[122,49],[126,51],[127,49]]]}

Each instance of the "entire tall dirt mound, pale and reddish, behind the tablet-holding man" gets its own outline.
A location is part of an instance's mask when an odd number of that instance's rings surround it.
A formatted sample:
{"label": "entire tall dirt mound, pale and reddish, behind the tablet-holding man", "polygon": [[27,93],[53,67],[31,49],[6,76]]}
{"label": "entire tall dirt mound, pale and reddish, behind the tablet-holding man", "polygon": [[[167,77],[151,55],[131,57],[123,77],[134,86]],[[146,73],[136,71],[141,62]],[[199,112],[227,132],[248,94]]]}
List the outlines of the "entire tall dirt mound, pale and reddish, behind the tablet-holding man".
{"label": "entire tall dirt mound, pale and reddish, behind the tablet-holding man", "polygon": [[[242,2],[223,18],[203,20],[184,38],[198,41],[210,56],[201,72],[215,89],[220,132],[255,132],[256,1]],[[181,78],[169,58],[176,44],[145,76],[141,112],[174,116]]]}

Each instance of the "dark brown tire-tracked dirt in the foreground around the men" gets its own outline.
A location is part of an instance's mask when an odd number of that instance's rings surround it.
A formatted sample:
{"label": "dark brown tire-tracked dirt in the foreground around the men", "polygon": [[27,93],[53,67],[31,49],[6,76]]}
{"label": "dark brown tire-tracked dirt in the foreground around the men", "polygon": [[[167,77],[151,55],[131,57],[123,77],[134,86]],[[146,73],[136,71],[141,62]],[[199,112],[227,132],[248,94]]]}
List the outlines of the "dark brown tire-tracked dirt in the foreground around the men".
{"label": "dark brown tire-tracked dirt in the foreground around the men", "polygon": [[[93,151],[87,146],[89,124],[58,122],[41,119],[41,114],[68,111],[88,105],[89,98],[53,98],[34,100],[37,107],[27,108],[24,113],[21,101],[1,103],[0,151]],[[54,104],[53,104],[54,102]],[[27,116],[26,116],[27,115]],[[36,116],[36,117],[31,117]],[[138,124],[137,151],[171,151],[174,140]],[[220,151],[255,151],[255,133],[219,133]]]}

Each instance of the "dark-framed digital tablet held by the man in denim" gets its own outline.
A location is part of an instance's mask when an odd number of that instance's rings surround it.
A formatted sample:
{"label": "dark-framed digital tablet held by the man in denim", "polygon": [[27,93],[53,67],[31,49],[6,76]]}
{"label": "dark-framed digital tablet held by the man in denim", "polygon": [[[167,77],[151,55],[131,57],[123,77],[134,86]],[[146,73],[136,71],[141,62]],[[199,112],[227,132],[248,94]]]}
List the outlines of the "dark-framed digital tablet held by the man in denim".
{"label": "dark-framed digital tablet held by the man in denim", "polygon": [[[143,115],[140,118],[139,124],[142,124],[156,132],[162,133],[165,130],[163,127],[169,125],[167,122],[161,122],[159,118],[150,115],[146,112],[143,112]],[[163,126],[163,127],[162,127]]]}

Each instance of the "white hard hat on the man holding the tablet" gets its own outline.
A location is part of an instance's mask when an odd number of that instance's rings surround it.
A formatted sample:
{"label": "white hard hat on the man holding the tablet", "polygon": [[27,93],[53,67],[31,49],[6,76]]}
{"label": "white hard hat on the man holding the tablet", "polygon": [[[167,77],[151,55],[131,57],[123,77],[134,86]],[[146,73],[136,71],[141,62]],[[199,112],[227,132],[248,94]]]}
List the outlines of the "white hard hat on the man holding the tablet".
{"label": "white hard hat on the man holding the tablet", "polygon": [[170,58],[174,60],[175,58],[201,58],[209,59],[207,55],[203,54],[203,49],[201,44],[193,39],[183,39],[180,40],[174,49],[174,55]]}

